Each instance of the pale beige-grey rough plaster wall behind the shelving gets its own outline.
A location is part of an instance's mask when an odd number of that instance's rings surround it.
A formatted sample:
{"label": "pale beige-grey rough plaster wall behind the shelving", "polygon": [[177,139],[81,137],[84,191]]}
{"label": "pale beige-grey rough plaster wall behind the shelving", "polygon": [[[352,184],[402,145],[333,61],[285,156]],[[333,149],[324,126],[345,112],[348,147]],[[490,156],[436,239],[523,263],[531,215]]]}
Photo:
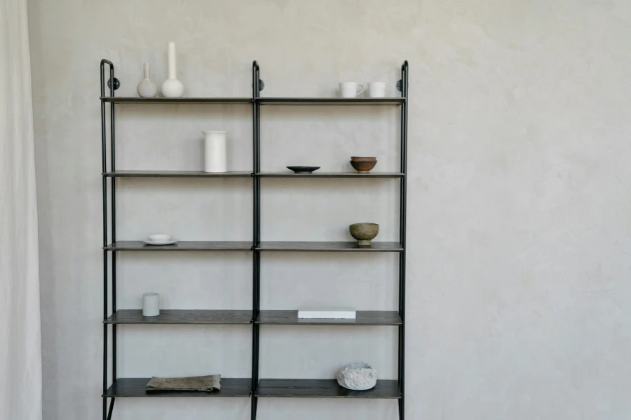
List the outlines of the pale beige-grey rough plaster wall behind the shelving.
{"label": "pale beige-grey rough plaster wall behind the shelving", "polygon": [[[409,419],[631,417],[631,3],[627,0],[29,1],[41,244],[44,418],[100,418],[98,62],[134,94],[161,83],[166,41],[191,96],[332,94],[410,62]],[[263,167],[395,168],[391,109],[265,108]],[[201,169],[202,129],[250,169],[250,110],[119,106],[118,165]],[[394,181],[264,180],[264,239],[395,237]],[[247,239],[245,180],[119,183],[119,237]],[[395,307],[392,255],[264,255],[269,309]],[[119,307],[250,303],[250,258],[121,255]],[[331,293],[334,290],[334,293]],[[121,376],[247,376],[247,327],[121,328]],[[263,328],[263,377],[395,375],[390,328]],[[134,399],[116,419],[248,419],[247,400]],[[216,415],[216,416],[215,416]],[[259,419],[395,418],[383,401],[262,400]]]}

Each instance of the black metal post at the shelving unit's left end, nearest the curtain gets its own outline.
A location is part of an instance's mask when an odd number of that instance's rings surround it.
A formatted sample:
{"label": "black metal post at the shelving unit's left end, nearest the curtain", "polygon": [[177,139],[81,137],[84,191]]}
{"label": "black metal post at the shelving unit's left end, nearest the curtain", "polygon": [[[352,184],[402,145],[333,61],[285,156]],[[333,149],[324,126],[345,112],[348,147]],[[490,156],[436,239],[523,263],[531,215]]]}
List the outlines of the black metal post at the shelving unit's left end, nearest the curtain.
{"label": "black metal post at the shelving unit's left end, nearest the curtain", "polygon": [[[114,64],[107,59],[101,60],[101,96],[105,96],[105,64],[109,65],[110,80],[114,80]],[[105,103],[101,101],[101,170],[107,172],[107,137],[105,128]],[[107,178],[102,175],[103,193],[103,248],[107,246]],[[107,251],[103,251],[103,320],[107,318]],[[103,394],[107,391],[107,324],[103,324]],[[107,398],[103,398],[103,420],[107,420]]]}

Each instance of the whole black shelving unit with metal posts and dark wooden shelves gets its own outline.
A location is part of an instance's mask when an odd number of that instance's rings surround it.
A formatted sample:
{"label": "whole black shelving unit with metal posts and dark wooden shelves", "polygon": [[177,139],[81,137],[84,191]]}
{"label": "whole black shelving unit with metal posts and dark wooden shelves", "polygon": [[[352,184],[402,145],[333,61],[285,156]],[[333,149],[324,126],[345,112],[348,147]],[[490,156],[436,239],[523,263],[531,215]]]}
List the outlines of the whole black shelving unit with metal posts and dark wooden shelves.
{"label": "whole black shelving unit with metal posts and dark wooden shelves", "polygon": [[[105,66],[109,67],[106,77]],[[384,398],[398,400],[398,416],[405,416],[405,233],[406,233],[406,170],[407,170],[407,100],[408,65],[404,62],[401,80],[397,84],[401,97],[387,98],[309,98],[261,97],[264,83],[257,62],[252,64],[252,97],[249,98],[136,98],[115,97],[120,83],[114,77],[114,64],[101,60],[101,151],[103,193],[103,420],[111,419],[116,398],[126,397],[242,397],[250,398],[252,420],[257,418],[258,398]],[[106,85],[109,96],[106,96]],[[107,141],[107,105],[109,104],[109,165]],[[131,171],[116,169],[116,104],[230,104],[252,106],[252,171],[206,174],[201,171]],[[399,106],[400,107],[400,172],[261,172],[260,106]],[[109,168],[108,168],[109,166]],[[116,239],[116,179],[125,178],[251,178],[253,197],[252,241],[179,241],[166,246],[148,246],[142,241]],[[358,246],[355,241],[261,241],[261,179],[395,179],[399,181],[399,241],[373,241],[372,246]],[[108,188],[109,187],[109,188]],[[156,317],[143,317],[140,309],[116,309],[116,254],[123,251],[240,251],[252,253],[252,309],[251,310],[186,310],[162,309]],[[261,310],[260,282],[261,255],[265,252],[342,252],[342,253],[398,253],[399,304],[396,311],[358,311],[356,319],[301,319],[297,311]],[[111,285],[111,286],[110,286]],[[111,297],[111,301],[110,301]],[[118,325],[177,325],[226,324],[251,325],[252,374],[250,378],[223,378],[219,392],[151,392],[145,390],[149,378],[119,378],[117,365]],[[369,391],[350,391],[334,379],[265,379],[259,378],[259,338],[261,325],[325,325],[367,326],[385,325],[398,328],[398,378],[380,379]],[[111,349],[109,329],[111,328]],[[157,328],[157,327],[155,327]],[[111,354],[111,366],[108,365]],[[111,384],[108,379],[111,375]],[[109,405],[108,405],[109,400]]]}

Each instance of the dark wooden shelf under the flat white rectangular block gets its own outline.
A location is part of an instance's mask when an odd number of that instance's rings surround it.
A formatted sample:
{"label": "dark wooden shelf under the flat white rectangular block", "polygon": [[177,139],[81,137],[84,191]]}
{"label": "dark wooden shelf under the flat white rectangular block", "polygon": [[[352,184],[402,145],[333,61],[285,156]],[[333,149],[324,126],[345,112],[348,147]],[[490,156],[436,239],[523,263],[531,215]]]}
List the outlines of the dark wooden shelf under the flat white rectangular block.
{"label": "dark wooden shelf under the flat white rectangular block", "polygon": [[355,319],[298,318],[298,311],[260,311],[255,321],[271,325],[401,325],[397,311],[357,311]]}

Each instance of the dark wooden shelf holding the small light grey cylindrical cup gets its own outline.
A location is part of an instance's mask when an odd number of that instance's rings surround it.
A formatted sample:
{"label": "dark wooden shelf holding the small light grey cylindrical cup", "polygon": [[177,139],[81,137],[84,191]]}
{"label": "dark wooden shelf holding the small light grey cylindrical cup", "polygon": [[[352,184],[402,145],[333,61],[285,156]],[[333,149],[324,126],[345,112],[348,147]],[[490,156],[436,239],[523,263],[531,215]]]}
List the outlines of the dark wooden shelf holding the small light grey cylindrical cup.
{"label": "dark wooden shelf holding the small light grey cylindrical cup", "polygon": [[161,309],[158,316],[142,316],[141,309],[118,309],[108,324],[250,324],[252,311]]}

